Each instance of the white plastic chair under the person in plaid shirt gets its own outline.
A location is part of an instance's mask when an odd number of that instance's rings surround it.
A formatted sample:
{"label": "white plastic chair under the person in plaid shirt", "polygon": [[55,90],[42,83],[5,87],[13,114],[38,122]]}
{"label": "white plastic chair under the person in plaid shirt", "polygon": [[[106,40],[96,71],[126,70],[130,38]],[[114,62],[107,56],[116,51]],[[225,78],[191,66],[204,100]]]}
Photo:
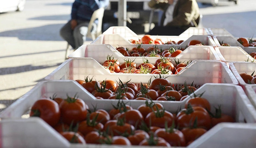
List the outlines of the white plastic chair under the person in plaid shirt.
{"label": "white plastic chair under the person in plaid shirt", "polygon": [[[103,15],[104,15],[104,7],[99,8],[97,10],[95,10],[92,14],[91,20],[88,24],[88,31],[86,34],[86,38],[92,38],[92,40],[95,40],[96,37],[98,37],[99,35],[102,34],[102,19],[103,19]],[[98,24],[95,24],[94,21],[98,19]],[[96,27],[96,29],[93,29],[93,27]],[[67,45],[66,48],[66,54],[65,54],[65,59],[68,59],[68,55],[69,55],[69,43]]]}

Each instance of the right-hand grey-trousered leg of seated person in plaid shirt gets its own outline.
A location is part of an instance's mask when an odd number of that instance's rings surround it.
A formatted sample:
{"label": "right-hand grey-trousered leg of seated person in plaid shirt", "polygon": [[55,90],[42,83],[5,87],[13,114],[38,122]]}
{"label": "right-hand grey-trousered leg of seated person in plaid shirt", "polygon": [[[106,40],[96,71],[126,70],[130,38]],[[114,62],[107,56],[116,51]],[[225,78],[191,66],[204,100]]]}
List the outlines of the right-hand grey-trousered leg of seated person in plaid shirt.
{"label": "right-hand grey-trousered leg of seated person in plaid shirt", "polygon": [[83,41],[86,40],[86,35],[88,31],[88,22],[79,23],[73,31],[73,37],[75,39],[75,48],[77,49],[83,45]]}

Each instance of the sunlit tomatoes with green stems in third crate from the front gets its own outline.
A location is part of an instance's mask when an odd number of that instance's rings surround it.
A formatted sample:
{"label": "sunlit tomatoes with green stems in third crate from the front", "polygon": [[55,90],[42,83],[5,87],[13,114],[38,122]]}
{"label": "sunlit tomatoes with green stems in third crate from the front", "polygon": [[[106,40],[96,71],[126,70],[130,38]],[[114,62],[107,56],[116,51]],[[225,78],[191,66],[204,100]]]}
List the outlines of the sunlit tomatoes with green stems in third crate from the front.
{"label": "sunlit tomatoes with green stems in third crate from the front", "polygon": [[171,63],[170,58],[160,57],[154,64],[147,59],[143,59],[143,63],[136,64],[129,58],[120,63],[118,59],[112,56],[107,56],[107,60],[102,64],[104,68],[111,73],[136,73],[136,74],[177,74],[183,70],[190,61],[180,62],[175,60],[175,66]]}

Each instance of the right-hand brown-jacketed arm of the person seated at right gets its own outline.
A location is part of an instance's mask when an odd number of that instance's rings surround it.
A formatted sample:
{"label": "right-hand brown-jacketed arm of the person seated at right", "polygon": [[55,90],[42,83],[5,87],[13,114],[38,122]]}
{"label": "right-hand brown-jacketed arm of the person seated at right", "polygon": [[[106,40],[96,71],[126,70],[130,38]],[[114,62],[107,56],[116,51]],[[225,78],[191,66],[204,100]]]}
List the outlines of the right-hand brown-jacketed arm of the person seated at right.
{"label": "right-hand brown-jacketed arm of the person seated at right", "polygon": [[192,1],[183,0],[178,6],[178,15],[171,22],[167,23],[166,26],[187,26],[192,21],[194,15],[195,11],[193,10]]}

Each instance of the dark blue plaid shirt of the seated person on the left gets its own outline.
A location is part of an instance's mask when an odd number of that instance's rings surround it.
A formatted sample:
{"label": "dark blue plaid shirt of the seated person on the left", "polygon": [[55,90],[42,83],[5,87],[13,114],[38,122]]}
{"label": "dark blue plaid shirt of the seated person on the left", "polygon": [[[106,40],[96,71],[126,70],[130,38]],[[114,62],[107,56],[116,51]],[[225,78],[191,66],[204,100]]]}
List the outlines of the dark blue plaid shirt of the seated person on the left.
{"label": "dark blue plaid shirt of the seated person on the left", "polygon": [[108,4],[109,0],[75,0],[72,5],[71,19],[89,21],[95,10],[106,7]]}

